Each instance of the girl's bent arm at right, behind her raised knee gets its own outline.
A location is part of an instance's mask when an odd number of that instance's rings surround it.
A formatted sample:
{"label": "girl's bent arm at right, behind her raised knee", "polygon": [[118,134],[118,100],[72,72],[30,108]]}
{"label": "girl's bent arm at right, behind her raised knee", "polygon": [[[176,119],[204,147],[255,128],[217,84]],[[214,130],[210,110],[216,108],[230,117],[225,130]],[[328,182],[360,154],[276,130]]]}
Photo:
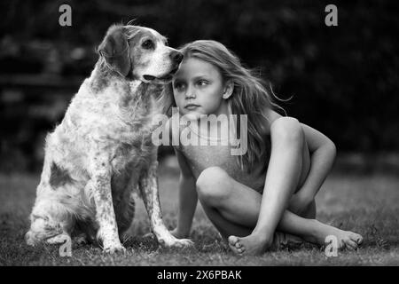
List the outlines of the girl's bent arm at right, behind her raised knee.
{"label": "girl's bent arm at right, behind her raised knee", "polygon": [[332,169],[336,154],[336,148],[332,140],[308,125],[301,123],[301,126],[309,147],[311,160],[308,177],[301,189],[293,195],[293,200],[290,202],[290,209],[293,209],[293,212],[297,214],[301,213],[301,209],[306,209],[310,202],[315,199],[318,190],[325,181],[325,177]]}

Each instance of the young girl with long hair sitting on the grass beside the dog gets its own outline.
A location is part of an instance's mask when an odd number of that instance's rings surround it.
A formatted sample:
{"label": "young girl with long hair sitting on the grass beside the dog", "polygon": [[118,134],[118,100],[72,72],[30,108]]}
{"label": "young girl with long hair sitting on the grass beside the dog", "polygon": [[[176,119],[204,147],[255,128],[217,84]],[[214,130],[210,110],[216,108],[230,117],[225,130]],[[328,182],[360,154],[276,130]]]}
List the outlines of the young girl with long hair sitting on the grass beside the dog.
{"label": "young girl with long hair sitting on the grass beside the dog", "polygon": [[278,106],[261,80],[222,43],[201,40],[181,51],[184,61],[172,88],[179,113],[191,121],[190,135],[220,142],[226,137],[218,133],[229,127],[227,122],[220,120],[209,131],[201,130],[201,120],[209,114],[246,114],[247,151],[231,155],[230,144],[175,147],[181,176],[173,234],[189,236],[200,200],[223,240],[238,254],[272,248],[281,241],[276,236],[287,236],[276,230],[320,245],[333,235],[339,248],[356,249],[362,236],[315,219],[315,195],[335,158],[332,141],[275,112]]}

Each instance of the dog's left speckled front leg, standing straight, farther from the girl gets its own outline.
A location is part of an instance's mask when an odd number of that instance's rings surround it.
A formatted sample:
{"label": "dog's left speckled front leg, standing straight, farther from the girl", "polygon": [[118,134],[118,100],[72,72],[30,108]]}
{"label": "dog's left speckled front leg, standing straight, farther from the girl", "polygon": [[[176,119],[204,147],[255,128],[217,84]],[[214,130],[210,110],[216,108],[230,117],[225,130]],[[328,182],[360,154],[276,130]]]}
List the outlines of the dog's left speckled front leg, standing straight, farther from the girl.
{"label": "dog's left speckled front leg, standing straight, farther from the girl", "polygon": [[89,186],[96,206],[98,239],[103,242],[103,249],[106,252],[125,251],[119,240],[118,226],[113,210],[110,163],[101,156],[96,156],[93,161],[94,170]]}

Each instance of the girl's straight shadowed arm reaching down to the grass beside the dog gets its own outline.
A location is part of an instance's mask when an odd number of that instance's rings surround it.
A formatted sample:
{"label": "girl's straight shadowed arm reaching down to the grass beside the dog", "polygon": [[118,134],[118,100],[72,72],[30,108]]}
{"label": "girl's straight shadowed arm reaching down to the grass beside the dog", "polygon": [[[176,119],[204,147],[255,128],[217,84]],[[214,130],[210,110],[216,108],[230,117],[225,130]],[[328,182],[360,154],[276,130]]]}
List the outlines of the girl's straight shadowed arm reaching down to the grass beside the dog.
{"label": "girl's straight shadowed arm reaching down to the grass beside the dog", "polygon": [[177,227],[172,234],[178,238],[187,238],[192,227],[192,218],[197,207],[198,196],[195,186],[195,177],[189,168],[184,155],[175,149],[180,166],[179,201]]}

